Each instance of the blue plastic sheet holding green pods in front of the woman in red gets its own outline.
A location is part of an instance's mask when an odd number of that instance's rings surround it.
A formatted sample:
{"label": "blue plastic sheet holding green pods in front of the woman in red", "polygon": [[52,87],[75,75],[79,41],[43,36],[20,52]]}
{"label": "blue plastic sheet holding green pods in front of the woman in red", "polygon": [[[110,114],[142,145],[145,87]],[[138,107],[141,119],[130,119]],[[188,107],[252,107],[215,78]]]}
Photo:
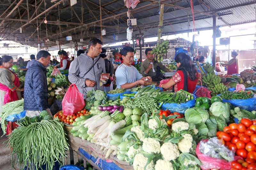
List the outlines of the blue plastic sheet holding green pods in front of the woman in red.
{"label": "blue plastic sheet holding green pods in front of the woman in red", "polygon": [[165,103],[162,105],[164,110],[170,110],[171,112],[185,113],[185,111],[189,108],[195,106],[196,96],[193,94],[194,99],[189,100],[186,103]]}

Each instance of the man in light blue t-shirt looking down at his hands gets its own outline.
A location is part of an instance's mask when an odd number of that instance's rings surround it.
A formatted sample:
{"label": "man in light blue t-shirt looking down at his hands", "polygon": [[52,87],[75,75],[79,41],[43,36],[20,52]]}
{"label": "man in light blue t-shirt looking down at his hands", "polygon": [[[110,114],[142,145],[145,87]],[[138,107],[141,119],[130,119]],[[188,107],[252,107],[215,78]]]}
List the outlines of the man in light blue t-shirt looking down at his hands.
{"label": "man in light blue t-shirt looking down at his hands", "polygon": [[137,85],[145,85],[152,82],[150,76],[143,77],[139,71],[132,66],[134,59],[134,49],[132,47],[124,47],[121,50],[121,55],[124,62],[116,69],[116,88],[130,90]]}

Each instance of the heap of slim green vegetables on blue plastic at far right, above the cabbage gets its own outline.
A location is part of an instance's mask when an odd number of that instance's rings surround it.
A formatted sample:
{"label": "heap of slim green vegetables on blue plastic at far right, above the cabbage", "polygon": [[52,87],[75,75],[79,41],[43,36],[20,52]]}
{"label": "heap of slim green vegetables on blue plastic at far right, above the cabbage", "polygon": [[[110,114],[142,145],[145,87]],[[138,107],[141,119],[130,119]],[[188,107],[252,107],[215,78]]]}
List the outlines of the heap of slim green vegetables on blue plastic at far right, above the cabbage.
{"label": "heap of slim green vegetables on blue plastic at far right, above the cabbage", "polygon": [[252,98],[252,94],[250,92],[230,92],[226,91],[220,94],[222,99],[250,99]]}

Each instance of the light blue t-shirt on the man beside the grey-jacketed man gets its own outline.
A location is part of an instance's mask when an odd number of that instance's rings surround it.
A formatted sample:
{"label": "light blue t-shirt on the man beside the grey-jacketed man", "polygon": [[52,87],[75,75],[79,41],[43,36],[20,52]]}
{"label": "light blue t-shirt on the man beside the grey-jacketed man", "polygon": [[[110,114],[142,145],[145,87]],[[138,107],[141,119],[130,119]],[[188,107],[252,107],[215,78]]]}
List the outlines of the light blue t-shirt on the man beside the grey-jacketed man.
{"label": "light blue t-shirt on the man beside the grey-jacketed man", "polygon": [[[124,85],[125,83],[133,83],[137,80],[140,80],[143,77],[134,66],[130,67],[125,64],[121,64],[116,69],[115,75],[116,75],[116,88],[117,89],[120,89],[121,85]],[[130,89],[125,89],[125,90],[127,91]]]}

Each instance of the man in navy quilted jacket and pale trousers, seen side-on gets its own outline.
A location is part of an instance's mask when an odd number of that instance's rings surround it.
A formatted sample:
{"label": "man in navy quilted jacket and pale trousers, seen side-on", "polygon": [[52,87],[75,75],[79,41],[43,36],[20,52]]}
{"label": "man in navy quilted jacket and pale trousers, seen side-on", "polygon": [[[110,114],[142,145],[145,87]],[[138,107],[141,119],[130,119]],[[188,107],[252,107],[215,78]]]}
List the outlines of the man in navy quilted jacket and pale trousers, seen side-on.
{"label": "man in navy quilted jacket and pale trousers, seen side-on", "polygon": [[24,86],[24,110],[26,116],[34,117],[48,108],[48,86],[46,79],[46,66],[50,63],[51,54],[41,50],[36,55],[36,61],[29,67]]}

